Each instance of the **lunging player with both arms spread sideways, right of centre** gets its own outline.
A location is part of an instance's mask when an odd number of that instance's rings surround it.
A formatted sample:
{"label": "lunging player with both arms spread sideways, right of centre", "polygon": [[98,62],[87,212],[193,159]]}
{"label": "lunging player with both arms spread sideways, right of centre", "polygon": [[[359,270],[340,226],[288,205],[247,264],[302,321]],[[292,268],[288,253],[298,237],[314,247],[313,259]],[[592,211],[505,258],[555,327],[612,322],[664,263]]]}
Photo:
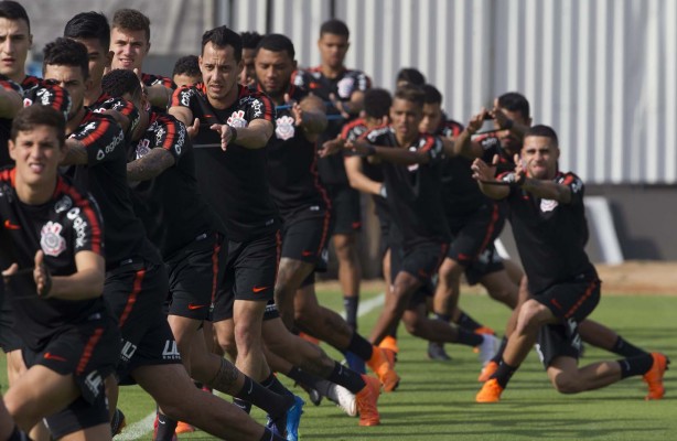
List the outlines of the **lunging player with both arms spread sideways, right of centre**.
{"label": "lunging player with both arms spread sideways, right of centre", "polygon": [[[419,132],[423,92],[406,85],[395,93],[391,123],[369,131],[364,139],[347,142],[356,153],[383,161],[386,201],[397,235],[390,234],[393,289],[372,331],[378,344],[407,311],[410,333],[427,338],[480,347],[481,358],[493,354],[495,337],[458,330],[429,321],[425,310],[410,304],[412,295],[436,273],[447,252],[449,232],[440,201],[440,165],[445,155],[469,155],[451,140]],[[425,304],[422,305],[425,308]]]}

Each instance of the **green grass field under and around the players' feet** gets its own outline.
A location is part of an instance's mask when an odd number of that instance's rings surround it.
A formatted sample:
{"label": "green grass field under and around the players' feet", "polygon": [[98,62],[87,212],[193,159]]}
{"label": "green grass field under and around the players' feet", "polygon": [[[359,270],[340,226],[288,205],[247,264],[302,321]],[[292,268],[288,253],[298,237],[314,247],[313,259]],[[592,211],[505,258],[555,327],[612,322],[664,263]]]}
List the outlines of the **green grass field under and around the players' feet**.
{"label": "green grass field under and around the players' feet", "polygon": [[[336,292],[319,294],[321,302],[341,310]],[[364,292],[363,300],[377,295]],[[483,294],[468,294],[462,308],[502,334],[508,311]],[[361,318],[362,330],[376,320],[375,310]],[[675,358],[677,366],[677,298],[614,297],[604,294],[591,316],[617,331],[630,342],[649,351],[662,351]],[[430,362],[426,343],[406,334],[400,326],[400,355],[397,370],[402,377],[393,394],[379,400],[382,426],[361,428],[356,418],[346,417],[329,401],[305,406],[300,434],[303,440],[673,440],[677,435],[677,376],[666,375],[666,398],[644,401],[645,384],[640,377],[611,387],[580,395],[559,395],[550,386],[535,353],[523,364],[503,394],[503,400],[479,405],[476,377],[480,363],[465,346],[448,345],[453,361]],[[325,349],[334,357],[338,354]],[[615,355],[587,346],[581,364]],[[4,370],[4,369],[0,369]],[[286,378],[282,379],[287,380]],[[0,381],[6,385],[4,373]],[[291,387],[291,384],[287,381]],[[304,399],[300,388],[294,388]],[[128,429],[116,440],[149,440],[150,422],[143,420],[154,410],[153,402],[138,387],[122,388],[120,407],[127,415]],[[262,412],[252,416],[265,421]],[[204,432],[180,440],[213,440]]]}

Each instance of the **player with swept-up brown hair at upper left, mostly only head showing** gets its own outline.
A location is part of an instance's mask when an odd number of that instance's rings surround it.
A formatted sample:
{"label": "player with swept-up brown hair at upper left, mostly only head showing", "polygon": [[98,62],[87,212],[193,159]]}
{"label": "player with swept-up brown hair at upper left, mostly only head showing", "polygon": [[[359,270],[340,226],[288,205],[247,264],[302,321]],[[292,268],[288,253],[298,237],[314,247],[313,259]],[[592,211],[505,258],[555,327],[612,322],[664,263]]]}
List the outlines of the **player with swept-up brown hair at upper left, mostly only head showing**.
{"label": "player with swept-up brown hair at upper left, mostly only head showing", "polygon": [[120,9],[110,28],[111,67],[135,71],[148,87],[151,105],[165,111],[176,85],[165,76],[143,73],[143,60],[150,51],[150,20],[136,9]]}

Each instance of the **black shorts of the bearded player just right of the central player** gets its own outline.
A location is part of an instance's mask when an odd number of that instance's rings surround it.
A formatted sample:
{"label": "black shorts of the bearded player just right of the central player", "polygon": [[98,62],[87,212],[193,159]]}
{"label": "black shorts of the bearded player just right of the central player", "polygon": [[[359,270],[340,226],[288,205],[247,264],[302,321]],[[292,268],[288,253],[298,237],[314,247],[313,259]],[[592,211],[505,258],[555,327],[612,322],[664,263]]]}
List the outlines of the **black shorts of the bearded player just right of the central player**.
{"label": "black shorts of the bearded player just right of the central player", "polygon": [[284,219],[281,256],[314,263],[315,271],[326,271],[330,227],[329,212],[318,213],[316,217]]}

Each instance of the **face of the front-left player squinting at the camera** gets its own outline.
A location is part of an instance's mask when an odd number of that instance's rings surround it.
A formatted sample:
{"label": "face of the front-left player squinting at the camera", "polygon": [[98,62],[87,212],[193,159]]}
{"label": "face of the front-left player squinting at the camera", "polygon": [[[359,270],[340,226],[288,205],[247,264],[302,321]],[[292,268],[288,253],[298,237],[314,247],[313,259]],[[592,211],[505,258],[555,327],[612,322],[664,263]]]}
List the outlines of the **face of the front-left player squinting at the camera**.
{"label": "face of the front-left player squinting at the camera", "polygon": [[20,131],[14,141],[9,141],[10,157],[17,161],[17,180],[36,186],[53,184],[56,180],[58,163],[64,159],[64,149],[50,126],[35,126]]}

